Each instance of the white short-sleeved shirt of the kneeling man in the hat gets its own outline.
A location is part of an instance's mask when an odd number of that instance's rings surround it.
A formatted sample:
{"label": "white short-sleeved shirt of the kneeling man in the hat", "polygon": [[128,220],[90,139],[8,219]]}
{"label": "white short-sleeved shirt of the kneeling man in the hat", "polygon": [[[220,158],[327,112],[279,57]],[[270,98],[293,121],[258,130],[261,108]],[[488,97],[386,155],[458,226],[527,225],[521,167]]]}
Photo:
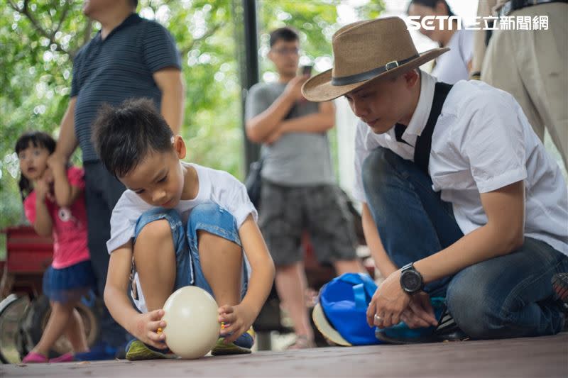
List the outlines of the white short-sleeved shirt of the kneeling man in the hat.
{"label": "white short-sleeved shirt of the kneeling man in the hat", "polygon": [[[418,104],[402,137],[410,145],[396,141],[394,128],[375,134],[366,123],[357,123],[353,194],[359,201],[367,202],[361,166],[371,150],[382,146],[414,160],[413,145],[430,116],[435,82],[435,77],[422,72]],[[464,234],[487,223],[480,193],[524,180],[525,236],[568,255],[566,182],[519,104],[506,91],[477,80],[455,84],[434,128],[428,167],[432,189],[452,203]]]}

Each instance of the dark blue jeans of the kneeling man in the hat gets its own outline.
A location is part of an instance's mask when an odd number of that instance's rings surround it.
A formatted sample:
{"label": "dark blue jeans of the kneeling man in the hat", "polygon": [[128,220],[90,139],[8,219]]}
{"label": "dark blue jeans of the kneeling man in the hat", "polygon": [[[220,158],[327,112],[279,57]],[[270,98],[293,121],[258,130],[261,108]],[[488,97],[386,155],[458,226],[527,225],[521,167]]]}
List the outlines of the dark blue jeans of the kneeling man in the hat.
{"label": "dark blue jeans of the kneeling man in the hat", "polygon": [[[368,207],[381,241],[398,267],[446,248],[463,234],[452,204],[432,190],[430,177],[391,150],[377,148],[363,165]],[[568,257],[547,243],[523,246],[425,287],[446,296],[458,326],[473,338],[551,335],[564,315],[552,300],[552,275],[567,272]]]}

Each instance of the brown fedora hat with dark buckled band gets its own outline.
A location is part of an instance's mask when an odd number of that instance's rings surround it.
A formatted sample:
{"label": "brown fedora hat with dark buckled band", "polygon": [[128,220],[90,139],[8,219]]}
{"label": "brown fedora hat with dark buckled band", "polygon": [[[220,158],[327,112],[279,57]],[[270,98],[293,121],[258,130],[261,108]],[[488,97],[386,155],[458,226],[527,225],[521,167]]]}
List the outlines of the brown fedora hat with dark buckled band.
{"label": "brown fedora hat with dark buckled band", "polygon": [[332,45],[333,68],[302,86],[309,101],[337,99],[370,80],[408,72],[449,50],[434,48],[419,54],[399,17],[351,23],[335,32]]}

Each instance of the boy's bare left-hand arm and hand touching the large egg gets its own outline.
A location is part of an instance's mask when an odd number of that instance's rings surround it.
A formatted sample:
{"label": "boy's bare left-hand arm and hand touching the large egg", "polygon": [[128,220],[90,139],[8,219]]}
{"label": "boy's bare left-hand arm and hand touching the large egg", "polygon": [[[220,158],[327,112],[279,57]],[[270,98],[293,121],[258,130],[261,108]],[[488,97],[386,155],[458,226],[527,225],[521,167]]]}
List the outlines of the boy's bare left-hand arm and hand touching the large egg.
{"label": "boy's bare left-hand arm and hand touching the large egg", "polygon": [[165,348],[165,335],[158,333],[158,328],[166,326],[161,318],[162,309],[149,313],[138,313],[128,298],[129,274],[132,263],[132,241],[121,245],[111,253],[107,284],[104,287],[104,304],[114,320],[126,331],[143,343],[155,348]]}

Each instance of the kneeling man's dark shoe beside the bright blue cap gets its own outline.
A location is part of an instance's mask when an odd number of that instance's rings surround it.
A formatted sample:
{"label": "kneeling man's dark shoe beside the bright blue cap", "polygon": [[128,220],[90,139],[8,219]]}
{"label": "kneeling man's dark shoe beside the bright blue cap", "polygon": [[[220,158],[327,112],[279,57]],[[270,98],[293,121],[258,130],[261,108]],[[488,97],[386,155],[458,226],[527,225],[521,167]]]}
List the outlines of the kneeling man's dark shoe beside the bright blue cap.
{"label": "kneeling man's dark shoe beside the bright blue cap", "polygon": [[463,341],[469,337],[459,329],[454,318],[447,311],[444,298],[432,298],[432,307],[438,326],[425,328],[408,328],[400,322],[389,328],[377,328],[375,335],[378,340],[390,344],[438,343],[440,341]]}

